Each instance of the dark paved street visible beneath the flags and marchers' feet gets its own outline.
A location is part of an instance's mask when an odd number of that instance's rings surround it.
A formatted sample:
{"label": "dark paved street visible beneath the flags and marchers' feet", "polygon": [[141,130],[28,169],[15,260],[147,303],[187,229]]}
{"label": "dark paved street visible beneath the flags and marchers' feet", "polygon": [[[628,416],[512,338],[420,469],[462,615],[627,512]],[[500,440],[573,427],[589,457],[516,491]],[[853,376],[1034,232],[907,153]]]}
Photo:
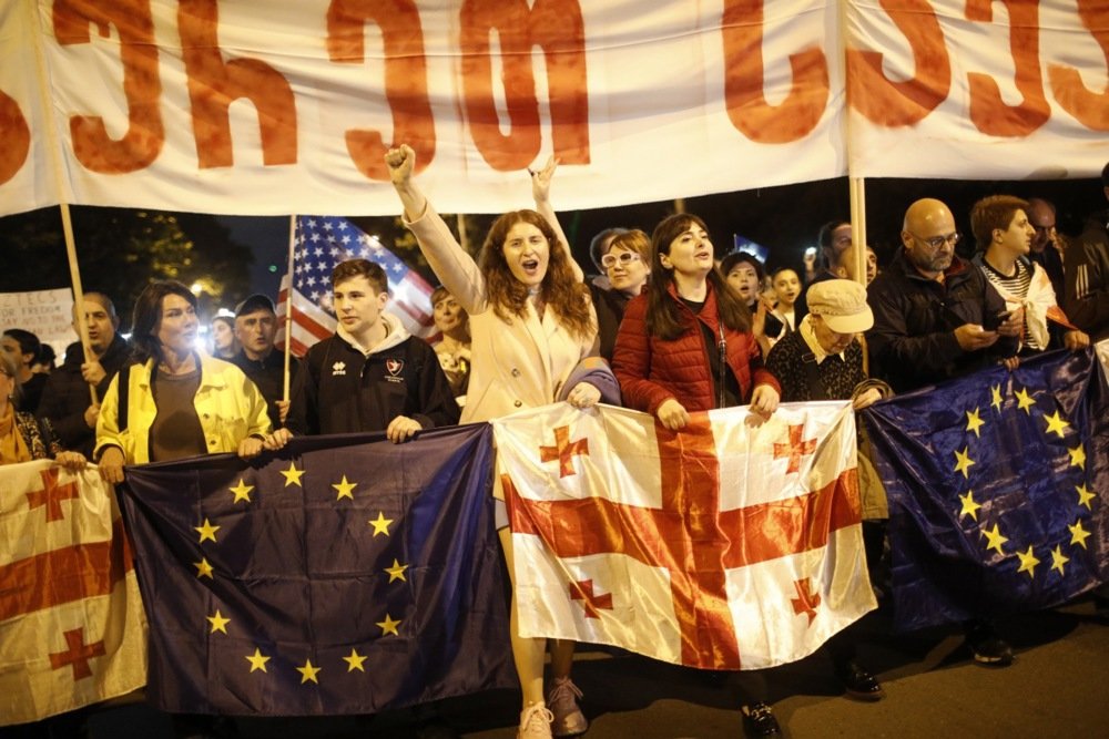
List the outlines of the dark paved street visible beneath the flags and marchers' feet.
{"label": "dark paved street visible beneath the flags and marchers' feet", "polygon": [[[1089,601],[999,624],[1017,648],[1007,669],[975,665],[955,632],[891,637],[881,615],[863,624],[861,658],[886,689],[878,704],[838,695],[826,658],[812,657],[771,678],[787,737],[1109,737],[1109,623]],[[582,650],[574,679],[592,720],[588,739],[741,736],[724,680],[625,654]],[[518,697],[498,691],[446,701],[467,739],[511,739]],[[99,714],[95,739],[170,737],[164,717],[141,706]],[[414,737],[411,715],[240,720],[243,737]]]}

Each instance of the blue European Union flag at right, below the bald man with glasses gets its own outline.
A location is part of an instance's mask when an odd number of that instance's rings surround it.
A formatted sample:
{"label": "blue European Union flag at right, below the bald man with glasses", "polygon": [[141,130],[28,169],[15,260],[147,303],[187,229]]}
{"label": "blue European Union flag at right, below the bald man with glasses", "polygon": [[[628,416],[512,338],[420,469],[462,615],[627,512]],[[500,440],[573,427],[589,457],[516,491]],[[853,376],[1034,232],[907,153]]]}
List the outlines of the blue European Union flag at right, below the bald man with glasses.
{"label": "blue European Union flag at right, below the bald man with glasses", "polygon": [[1047,608],[1109,578],[1109,389],[1091,351],[863,418],[889,496],[898,629]]}

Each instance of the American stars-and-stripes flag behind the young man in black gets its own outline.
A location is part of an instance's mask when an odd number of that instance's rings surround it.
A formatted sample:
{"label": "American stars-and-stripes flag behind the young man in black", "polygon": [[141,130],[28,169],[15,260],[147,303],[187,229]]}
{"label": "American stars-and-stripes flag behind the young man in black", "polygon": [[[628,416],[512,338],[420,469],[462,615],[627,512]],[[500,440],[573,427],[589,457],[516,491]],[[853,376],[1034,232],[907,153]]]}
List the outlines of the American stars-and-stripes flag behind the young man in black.
{"label": "American stars-and-stripes flag behind the young man in black", "polygon": [[[421,338],[435,335],[431,317],[431,286],[376,236],[346,218],[297,216],[293,248],[293,353],[303,356],[308,347],[335,332],[332,304],[332,269],[347,259],[369,259],[381,265],[389,278],[386,311],[400,319],[408,332]],[[282,278],[277,316],[288,310],[288,278]]]}

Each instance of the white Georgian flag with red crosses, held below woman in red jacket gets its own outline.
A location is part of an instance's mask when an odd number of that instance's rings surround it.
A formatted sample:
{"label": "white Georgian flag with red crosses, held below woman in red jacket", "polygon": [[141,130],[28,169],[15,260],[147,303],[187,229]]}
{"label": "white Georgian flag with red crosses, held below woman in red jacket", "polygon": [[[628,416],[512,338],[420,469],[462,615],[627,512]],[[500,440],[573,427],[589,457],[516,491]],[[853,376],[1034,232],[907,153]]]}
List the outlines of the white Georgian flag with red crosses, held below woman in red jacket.
{"label": "white Georgian flag with red crosses, held below woman in red jacket", "polygon": [[670,663],[800,659],[876,606],[844,403],[643,413],[566,403],[494,422],[523,636]]}

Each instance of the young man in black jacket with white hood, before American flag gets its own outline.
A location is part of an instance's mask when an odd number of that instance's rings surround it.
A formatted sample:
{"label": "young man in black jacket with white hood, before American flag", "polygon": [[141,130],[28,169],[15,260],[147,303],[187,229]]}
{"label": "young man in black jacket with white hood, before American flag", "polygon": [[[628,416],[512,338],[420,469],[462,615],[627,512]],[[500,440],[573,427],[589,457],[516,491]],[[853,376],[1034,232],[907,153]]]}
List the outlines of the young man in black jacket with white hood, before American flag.
{"label": "young man in black jacket with white hood, before American flag", "polygon": [[388,279],[366,259],[332,273],[335,336],[312,347],[296,373],[286,427],[293,434],[384,430],[400,443],[458,423],[435,350],[385,312]]}

